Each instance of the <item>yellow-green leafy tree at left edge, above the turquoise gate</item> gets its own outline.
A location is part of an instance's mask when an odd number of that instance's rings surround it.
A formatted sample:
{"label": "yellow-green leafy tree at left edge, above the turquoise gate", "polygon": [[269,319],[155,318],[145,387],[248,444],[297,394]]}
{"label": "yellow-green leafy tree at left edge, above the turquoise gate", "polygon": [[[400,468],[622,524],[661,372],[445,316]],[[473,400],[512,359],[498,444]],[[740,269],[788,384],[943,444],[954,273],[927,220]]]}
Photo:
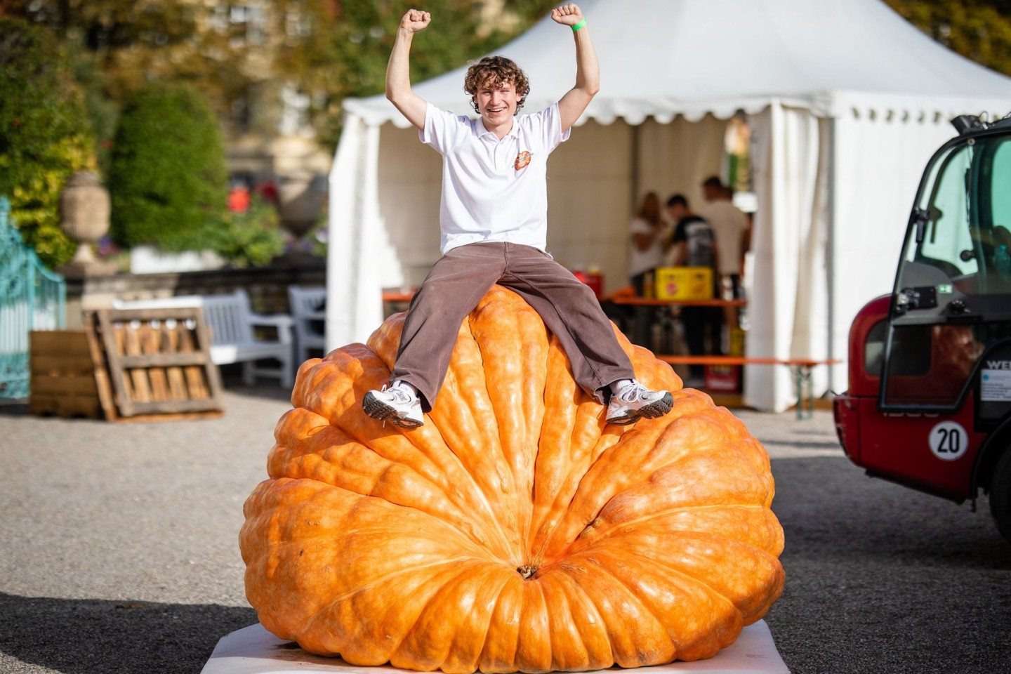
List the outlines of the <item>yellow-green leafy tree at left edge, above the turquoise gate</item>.
{"label": "yellow-green leafy tree at left edge, above the turquoise gate", "polygon": [[25,243],[55,267],[76,250],[60,229],[60,192],[95,160],[80,91],[48,31],[0,17],[0,194]]}

